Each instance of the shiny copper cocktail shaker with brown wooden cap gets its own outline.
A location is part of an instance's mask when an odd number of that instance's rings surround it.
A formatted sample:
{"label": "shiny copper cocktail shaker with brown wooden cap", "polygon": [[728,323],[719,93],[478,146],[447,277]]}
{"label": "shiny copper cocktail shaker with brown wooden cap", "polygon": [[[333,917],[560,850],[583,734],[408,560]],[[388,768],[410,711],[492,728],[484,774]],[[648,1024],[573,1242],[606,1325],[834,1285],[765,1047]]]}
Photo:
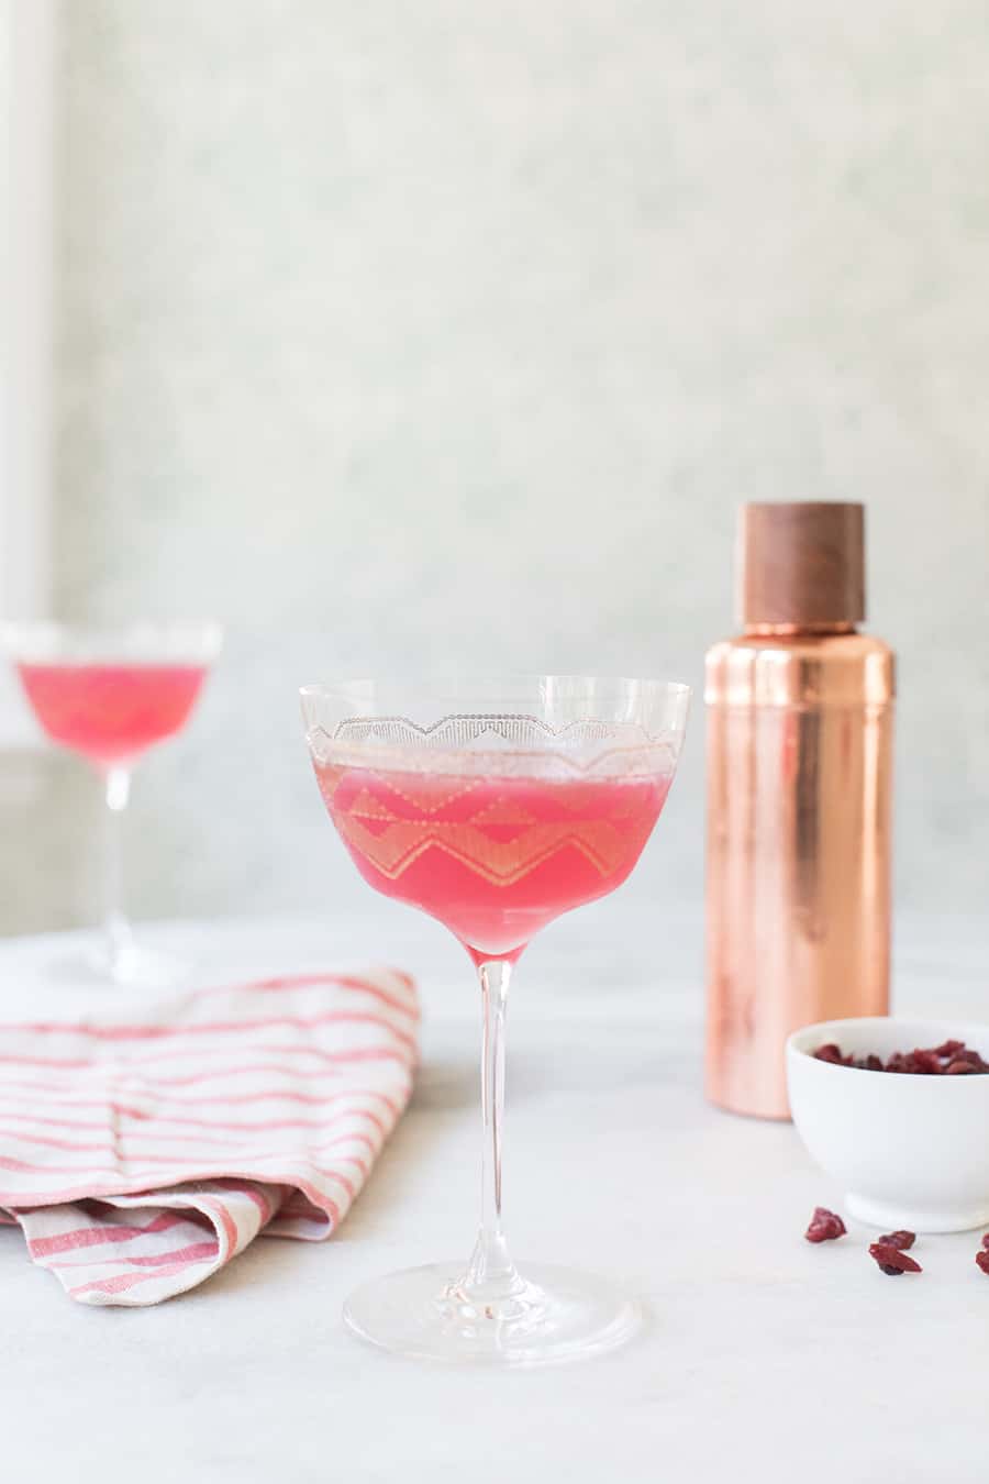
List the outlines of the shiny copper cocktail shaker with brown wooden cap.
{"label": "shiny copper cocktail shaker with brown wooden cap", "polygon": [[744,631],[707,654],[707,1095],[789,1117],[783,1045],[884,1015],[894,662],[861,505],[747,505]]}

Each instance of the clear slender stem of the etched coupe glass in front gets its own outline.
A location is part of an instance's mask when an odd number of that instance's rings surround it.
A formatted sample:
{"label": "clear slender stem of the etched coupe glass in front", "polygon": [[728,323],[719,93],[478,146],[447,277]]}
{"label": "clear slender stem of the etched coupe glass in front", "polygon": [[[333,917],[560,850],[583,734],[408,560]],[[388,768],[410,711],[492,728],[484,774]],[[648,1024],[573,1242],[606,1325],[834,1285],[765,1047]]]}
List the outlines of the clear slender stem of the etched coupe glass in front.
{"label": "clear slender stem of the etched coupe glass in front", "polygon": [[469,1290],[501,1297],[522,1287],[501,1229],[501,1137],[504,1128],[504,1020],[512,965],[491,960],[477,966],[483,1005],[480,1049],[480,1230],[466,1275]]}

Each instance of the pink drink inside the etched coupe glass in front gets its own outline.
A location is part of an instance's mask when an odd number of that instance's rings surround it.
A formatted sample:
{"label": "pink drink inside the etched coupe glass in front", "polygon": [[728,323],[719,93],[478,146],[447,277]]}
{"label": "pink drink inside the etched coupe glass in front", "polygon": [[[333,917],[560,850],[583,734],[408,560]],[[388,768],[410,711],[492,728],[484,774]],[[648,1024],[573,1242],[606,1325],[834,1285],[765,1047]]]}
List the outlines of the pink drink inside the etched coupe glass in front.
{"label": "pink drink inside the etched coupe glass in front", "polygon": [[371,886],[437,917],[473,957],[516,959],[560,913],[620,886],[669,775],[472,778],[317,763],[320,792]]}

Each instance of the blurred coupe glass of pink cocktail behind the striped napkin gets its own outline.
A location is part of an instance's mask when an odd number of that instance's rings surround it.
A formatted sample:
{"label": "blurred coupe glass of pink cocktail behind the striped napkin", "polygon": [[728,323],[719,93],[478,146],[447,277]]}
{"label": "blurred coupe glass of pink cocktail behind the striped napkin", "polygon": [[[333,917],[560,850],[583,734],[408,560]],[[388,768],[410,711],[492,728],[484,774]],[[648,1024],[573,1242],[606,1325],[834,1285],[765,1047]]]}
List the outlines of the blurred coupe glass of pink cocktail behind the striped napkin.
{"label": "blurred coupe glass of pink cocktail behind the striped napkin", "polygon": [[219,653],[219,628],[6,623],[0,640],[44,732],[86,758],[104,782],[105,923],[93,966],[119,984],[168,982],[175,966],[135,945],[122,908],[120,816],[136,758],[188,720]]}

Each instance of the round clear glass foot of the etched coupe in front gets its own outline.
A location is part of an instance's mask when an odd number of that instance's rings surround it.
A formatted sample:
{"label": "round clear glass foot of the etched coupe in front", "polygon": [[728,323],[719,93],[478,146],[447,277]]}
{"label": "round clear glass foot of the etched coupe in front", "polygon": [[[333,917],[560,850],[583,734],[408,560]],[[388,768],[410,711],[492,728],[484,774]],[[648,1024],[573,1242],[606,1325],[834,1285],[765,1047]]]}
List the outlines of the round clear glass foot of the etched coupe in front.
{"label": "round clear glass foot of the etched coupe in front", "polygon": [[454,1365],[562,1365],[626,1345],[642,1309],[593,1273],[534,1264],[512,1293],[477,1298],[463,1263],[375,1278],[344,1304],[348,1328],[397,1355]]}

